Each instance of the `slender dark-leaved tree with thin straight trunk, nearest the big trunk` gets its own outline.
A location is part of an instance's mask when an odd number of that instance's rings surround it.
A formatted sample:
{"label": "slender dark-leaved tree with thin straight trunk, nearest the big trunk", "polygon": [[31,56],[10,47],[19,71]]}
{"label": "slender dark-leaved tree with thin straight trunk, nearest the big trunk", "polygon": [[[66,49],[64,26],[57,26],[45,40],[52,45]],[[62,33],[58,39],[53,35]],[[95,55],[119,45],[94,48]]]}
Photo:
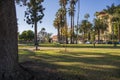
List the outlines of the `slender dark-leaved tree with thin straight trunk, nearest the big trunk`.
{"label": "slender dark-leaved tree with thin straight trunk, nearest the big trunk", "polygon": [[34,31],[35,31],[35,47],[36,50],[38,49],[38,41],[37,41],[37,24],[38,22],[42,22],[42,18],[44,17],[43,11],[45,8],[42,6],[42,2],[44,0],[30,0],[27,4],[27,10],[25,11],[25,17],[26,17],[26,22],[28,24],[34,25]]}

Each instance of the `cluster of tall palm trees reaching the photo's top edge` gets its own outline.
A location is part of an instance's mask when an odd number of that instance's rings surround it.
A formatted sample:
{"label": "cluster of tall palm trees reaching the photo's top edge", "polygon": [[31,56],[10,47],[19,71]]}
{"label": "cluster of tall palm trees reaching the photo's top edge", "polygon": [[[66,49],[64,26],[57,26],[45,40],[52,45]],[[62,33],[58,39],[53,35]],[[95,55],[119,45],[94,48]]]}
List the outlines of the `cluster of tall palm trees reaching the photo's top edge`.
{"label": "cluster of tall palm trees reaching the photo's top edge", "polygon": [[[70,8],[66,8],[66,5],[70,3]],[[68,43],[68,26],[67,26],[67,12],[71,16],[71,33],[70,33],[70,42],[74,41],[74,12],[75,12],[75,4],[77,0],[59,0],[60,9],[56,13],[56,18],[54,20],[54,26],[58,29],[58,42]],[[57,25],[56,25],[57,24]]]}

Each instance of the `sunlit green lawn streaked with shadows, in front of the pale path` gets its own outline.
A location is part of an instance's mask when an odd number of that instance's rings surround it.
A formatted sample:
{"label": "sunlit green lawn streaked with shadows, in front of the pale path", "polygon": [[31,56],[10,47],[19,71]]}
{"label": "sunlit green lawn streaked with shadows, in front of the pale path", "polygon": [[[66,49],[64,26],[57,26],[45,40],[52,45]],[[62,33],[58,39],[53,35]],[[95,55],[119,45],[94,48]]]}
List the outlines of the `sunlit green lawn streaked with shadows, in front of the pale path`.
{"label": "sunlit green lawn streaked with shadows, in front of the pale path", "polygon": [[19,61],[34,61],[55,70],[63,80],[120,80],[120,49],[19,49]]}

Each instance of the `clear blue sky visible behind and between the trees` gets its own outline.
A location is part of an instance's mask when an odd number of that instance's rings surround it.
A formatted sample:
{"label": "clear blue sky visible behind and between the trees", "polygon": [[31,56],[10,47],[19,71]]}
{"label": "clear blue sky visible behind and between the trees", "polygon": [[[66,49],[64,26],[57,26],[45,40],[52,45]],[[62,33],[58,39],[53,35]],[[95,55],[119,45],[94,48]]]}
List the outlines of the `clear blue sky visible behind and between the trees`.
{"label": "clear blue sky visible behind and between the trees", "polygon": [[[89,13],[89,21],[93,21],[94,13],[97,11],[102,11],[106,8],[106,6],[111,6],[114,3],[115,5],[120,4],[120,0],[80,0],[80,19],[84,19],[84,15]],[[42,23],[38,23],[38,32],[41,28],[45,28],[46,32],[53,33],[53,35],[57,34],[57,30],[53,26],[53,21],[55,19],[55,14],[57,10],[60,8],[59,0],[44,0],[42,3],[43,7],[45,8],[44,14],[45,16],[42,19]],[[69,4],[67,5],[69,6]],[[24,11],[26,7],[20,7],[20,5],[16,5],[16,14],[18,19],[18,32],[22,32],[24,30],[33,30],[32,25],[28,25],[24,21]],[[67,14],[68,25],[70,24],[70,16]],[[75,24],[77,24],[77,4],[76,4],[76,11],[75,11]]]}

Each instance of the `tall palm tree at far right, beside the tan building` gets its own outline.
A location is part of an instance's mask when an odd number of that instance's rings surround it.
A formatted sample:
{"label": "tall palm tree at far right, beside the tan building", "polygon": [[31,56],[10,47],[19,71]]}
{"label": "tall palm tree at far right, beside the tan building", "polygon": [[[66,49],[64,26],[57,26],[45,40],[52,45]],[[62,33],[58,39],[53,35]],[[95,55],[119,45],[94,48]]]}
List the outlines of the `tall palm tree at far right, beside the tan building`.
{"label": "tall palm tree at far right, beside the tan building", "polygon": [[120,5],[115,6],[114,4],[112,4],[111,6],[107,6],[107,9],[104,9],[103,11],[105,11],[106,13],[108,13],[110,15],[110,19],[111,19],[111,25],[112,25],[112,40],[114,41],[114,24],[117,26],[118,28],[118,41],[120,41]]}

